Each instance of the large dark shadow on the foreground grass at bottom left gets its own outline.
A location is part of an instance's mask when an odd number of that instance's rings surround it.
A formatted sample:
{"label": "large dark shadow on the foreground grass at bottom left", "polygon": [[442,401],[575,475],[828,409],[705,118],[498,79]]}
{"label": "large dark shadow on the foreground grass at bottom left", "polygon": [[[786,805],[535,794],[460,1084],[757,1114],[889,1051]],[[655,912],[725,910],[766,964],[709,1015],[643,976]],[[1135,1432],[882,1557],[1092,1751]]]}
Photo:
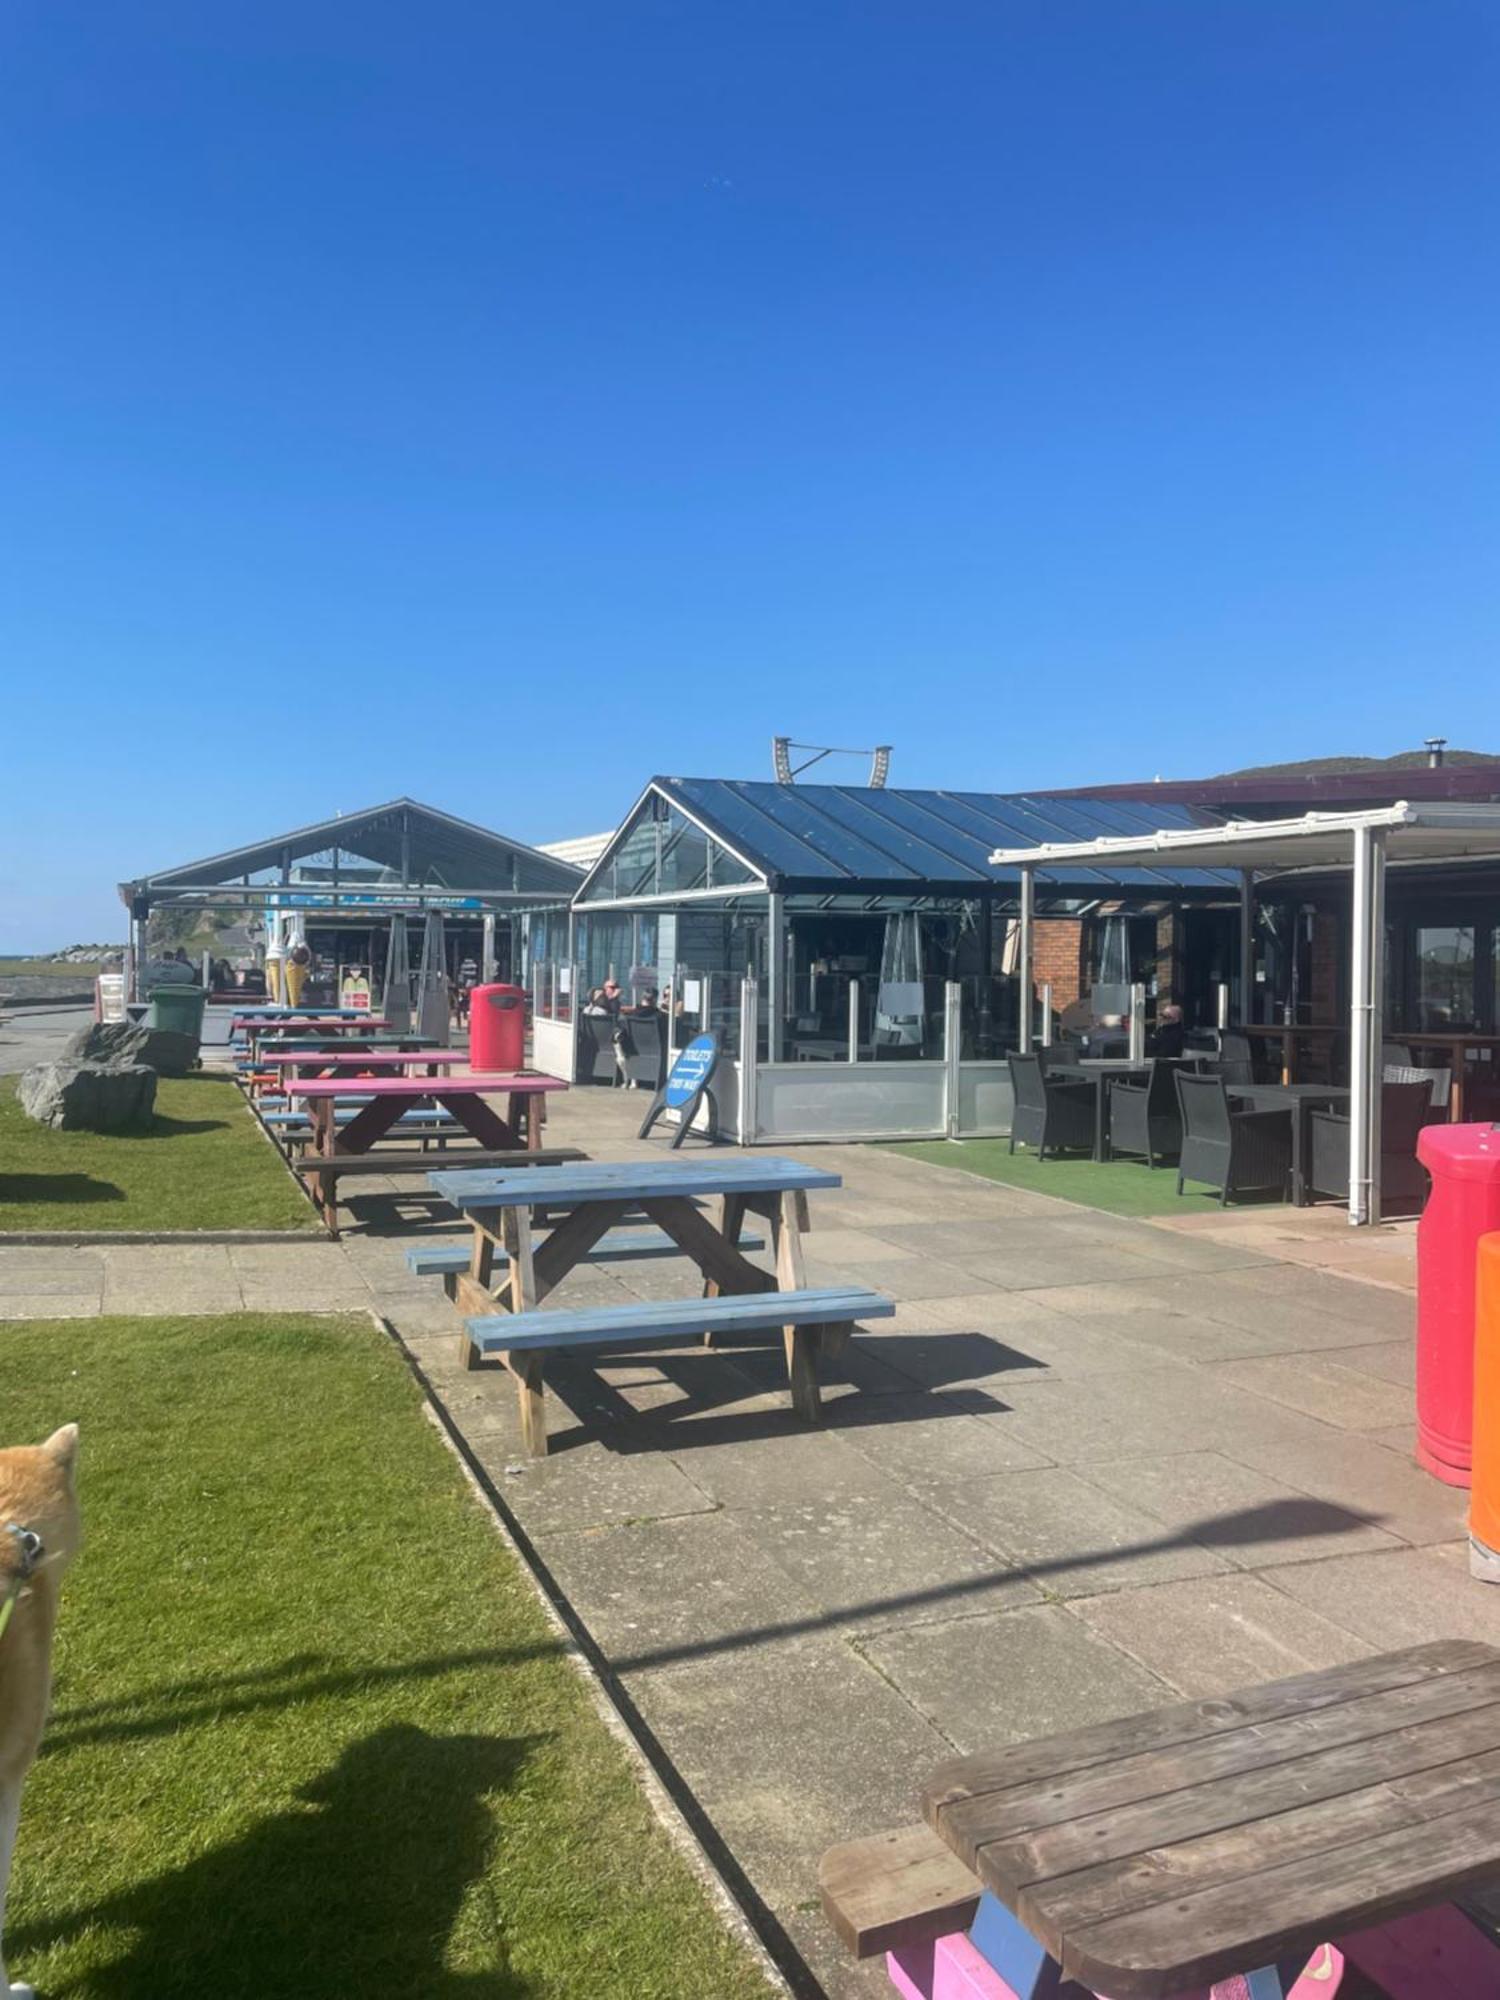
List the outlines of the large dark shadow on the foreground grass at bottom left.
{"label": "large dark shadow on the foreground grass at bottom left", "polygon": [[[96,1962],[82,1982],[54,1982],[58,2000],[524,2000],[534,1986],[494,1962],[504,1958],[502,1912],[492,1912],[488,1970],[448,1972],[442,1954],[490,1864],[488,1798],[516,1780],[540,1740],[390,1724],[306,1784],[306,1804],[268,1814],[182,1868],[18,1928],[8,1956],[118,1930],[120,1956]],[[92,1950],[98,1960],[108,1946],[94,1938]]]}

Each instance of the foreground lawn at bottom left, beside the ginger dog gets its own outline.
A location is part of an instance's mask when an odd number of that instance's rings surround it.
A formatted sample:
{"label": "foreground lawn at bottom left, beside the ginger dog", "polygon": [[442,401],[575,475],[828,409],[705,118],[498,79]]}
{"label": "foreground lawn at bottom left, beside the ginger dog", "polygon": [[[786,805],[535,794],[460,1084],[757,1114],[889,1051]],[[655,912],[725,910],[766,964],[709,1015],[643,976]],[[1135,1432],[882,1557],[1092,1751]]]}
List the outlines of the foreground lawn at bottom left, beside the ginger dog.
{"label": "foreground lawn at bottom left, beside the ginger dog", "polygon": [[16,1322],[4,1380],[6,1442],[82,1424],[86,1520],[12,1978],[768,1994],[370,1322]]}

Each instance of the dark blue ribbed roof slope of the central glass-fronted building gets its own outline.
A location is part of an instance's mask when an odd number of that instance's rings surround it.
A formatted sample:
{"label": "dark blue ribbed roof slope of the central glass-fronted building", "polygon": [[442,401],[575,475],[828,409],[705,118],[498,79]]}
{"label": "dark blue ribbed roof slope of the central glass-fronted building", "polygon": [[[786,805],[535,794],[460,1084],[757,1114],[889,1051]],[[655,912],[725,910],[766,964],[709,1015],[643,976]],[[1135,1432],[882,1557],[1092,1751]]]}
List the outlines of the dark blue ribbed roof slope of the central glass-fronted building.
{"label": "dark blue ribbed roof slope of the central glass-fronted building", "polygon": [[[732,846],[772,888],[838,886],[972,892],[1014,884],[1016,868],[990,868],[994,848],[1164,826],[1212,826],[1216,814],[1178,804],[1046,798],[1004,792],[870,790],[844,784],[768,784],[738,778],[656,778],[654,788]],[[1036,870],[1038,884],[1106,890],[1236,886],[1212,868]]]}

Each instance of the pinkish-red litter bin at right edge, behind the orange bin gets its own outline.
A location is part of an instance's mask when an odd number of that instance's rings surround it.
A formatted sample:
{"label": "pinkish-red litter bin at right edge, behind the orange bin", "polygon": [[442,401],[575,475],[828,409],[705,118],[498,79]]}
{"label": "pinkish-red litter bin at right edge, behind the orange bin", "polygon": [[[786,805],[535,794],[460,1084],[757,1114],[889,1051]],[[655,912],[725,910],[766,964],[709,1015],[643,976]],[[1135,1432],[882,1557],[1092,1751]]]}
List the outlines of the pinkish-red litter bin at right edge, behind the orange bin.
{"label": "pinkish-red litter bin at right edge, behind the orange bin", "polygon": [[1474,1452],[1474,1268],[1500,1230],[1500,1128],[1422,1126],[1432,1194],[1416,1226],[1416,1456],[1450,1486]]}

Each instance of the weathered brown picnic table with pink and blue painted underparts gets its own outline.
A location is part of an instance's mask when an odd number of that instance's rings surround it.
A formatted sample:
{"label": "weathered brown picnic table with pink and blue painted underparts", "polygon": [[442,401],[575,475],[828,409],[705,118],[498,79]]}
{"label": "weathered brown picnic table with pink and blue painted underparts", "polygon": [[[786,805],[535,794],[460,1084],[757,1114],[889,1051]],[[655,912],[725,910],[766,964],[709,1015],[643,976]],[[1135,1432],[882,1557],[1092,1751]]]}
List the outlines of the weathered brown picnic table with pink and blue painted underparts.
{"label": "weathered brown picnic table with pink and blue painted underparts", "polygon": [[922,1812],[818,1872],[906,2000],[1500,1994],[1500,1946],[1454,1904],[1500,1876],[1492,1646],[954,1758]]}

